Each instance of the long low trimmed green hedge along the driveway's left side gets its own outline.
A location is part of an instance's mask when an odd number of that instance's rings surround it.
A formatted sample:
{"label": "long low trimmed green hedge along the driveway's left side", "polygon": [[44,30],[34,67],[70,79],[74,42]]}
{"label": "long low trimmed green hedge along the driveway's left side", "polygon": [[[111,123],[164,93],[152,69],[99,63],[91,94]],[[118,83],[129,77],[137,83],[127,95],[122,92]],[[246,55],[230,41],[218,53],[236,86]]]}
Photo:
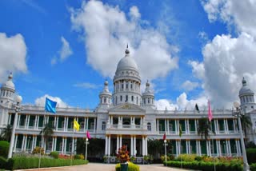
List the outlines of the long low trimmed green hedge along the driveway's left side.
{"label": "long low trimmed green hedge along the driveway's left side", "polygon": [[[38,157],[13,157],[8,160],[5,168],[1,169],[33,169],[38,168]],[[51,159],[42,157],[41,158],[41,168],[47,167],[58,167],[67,165],[85,165],[88,161],[84,160],[72,160],[71,159]]]}

